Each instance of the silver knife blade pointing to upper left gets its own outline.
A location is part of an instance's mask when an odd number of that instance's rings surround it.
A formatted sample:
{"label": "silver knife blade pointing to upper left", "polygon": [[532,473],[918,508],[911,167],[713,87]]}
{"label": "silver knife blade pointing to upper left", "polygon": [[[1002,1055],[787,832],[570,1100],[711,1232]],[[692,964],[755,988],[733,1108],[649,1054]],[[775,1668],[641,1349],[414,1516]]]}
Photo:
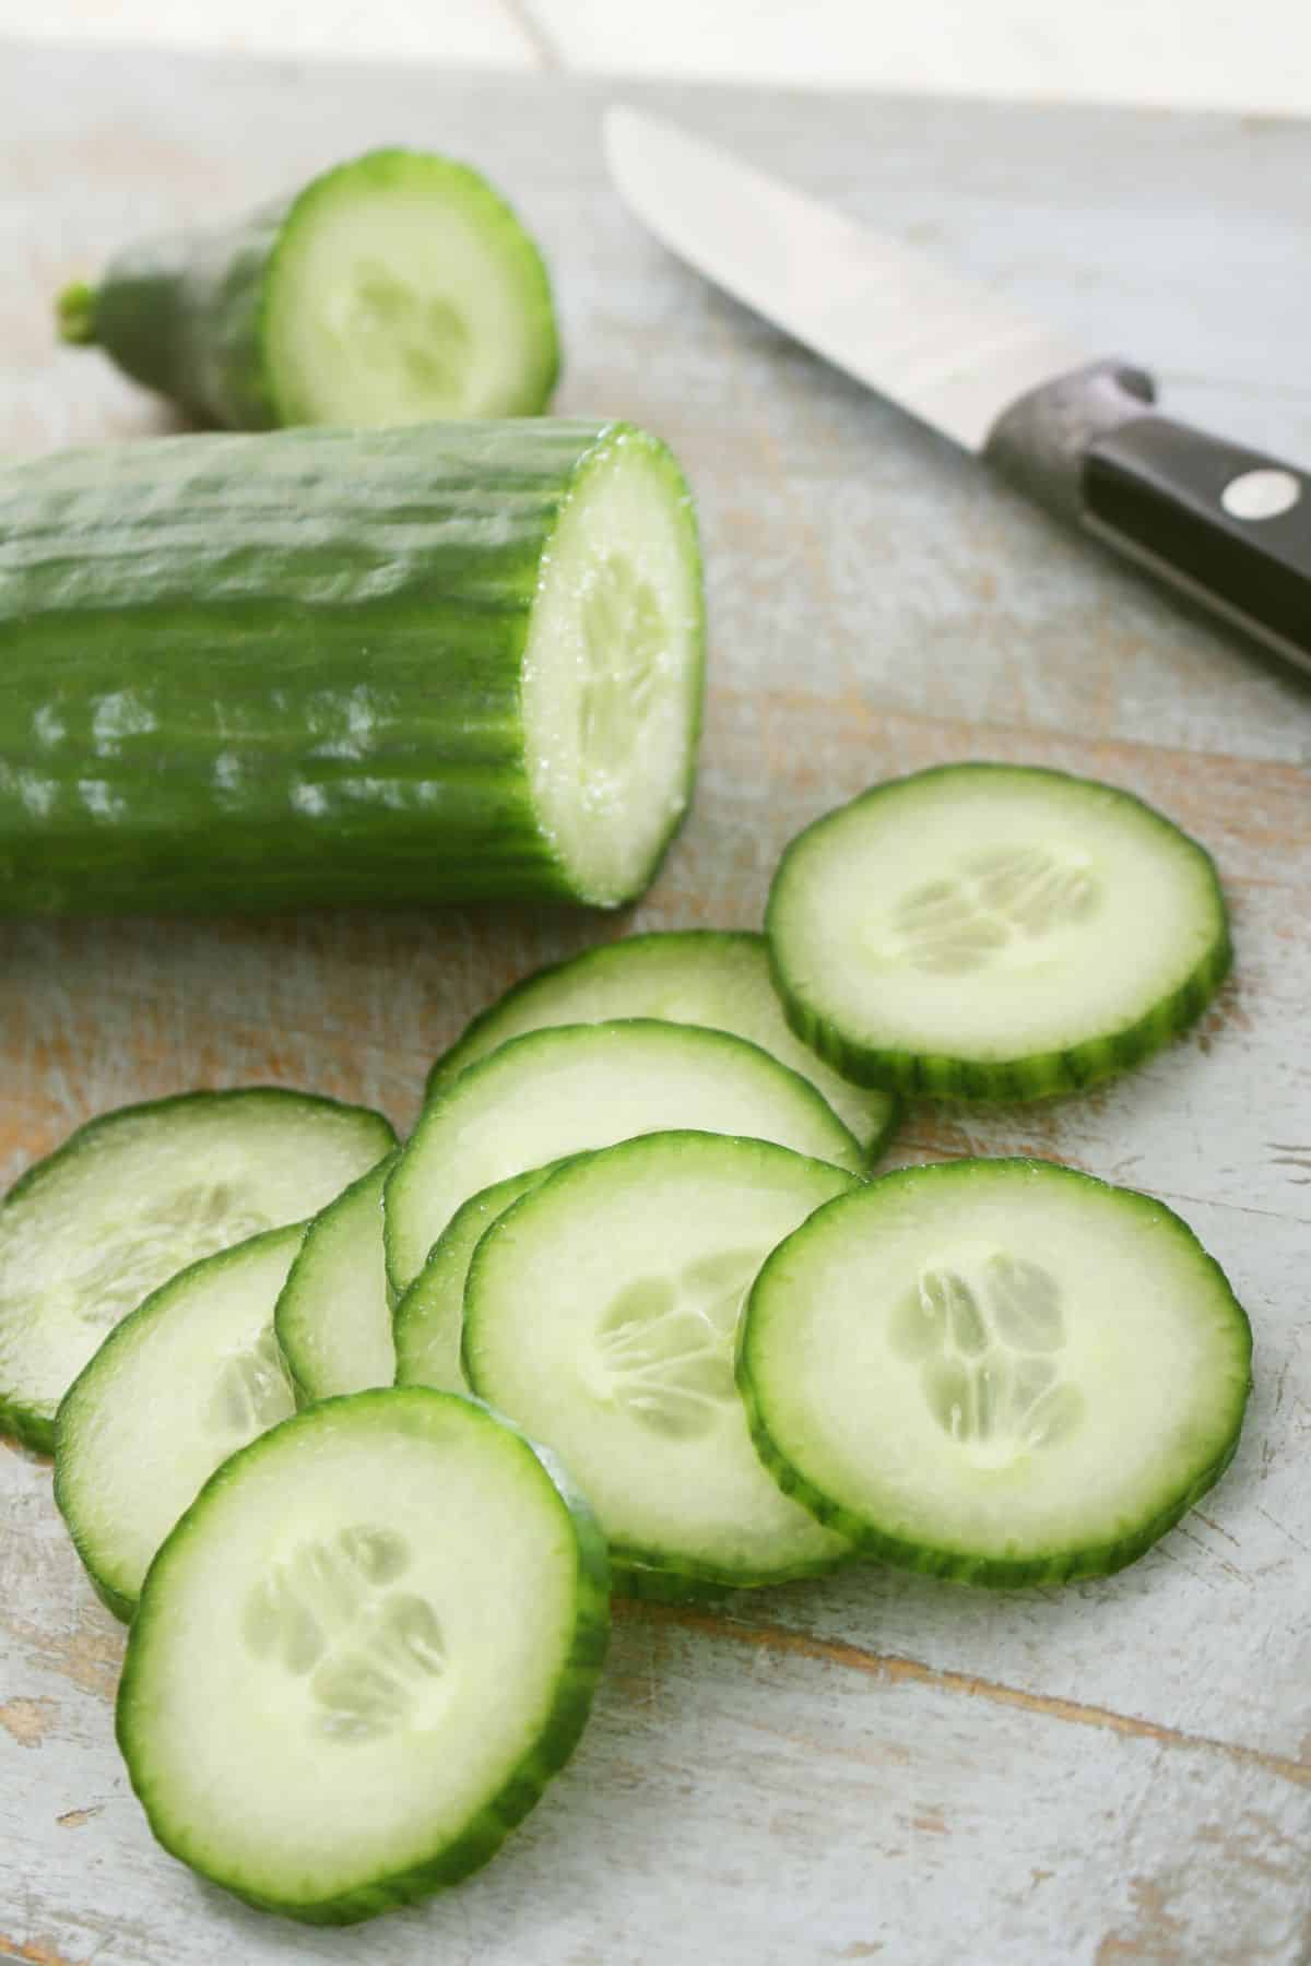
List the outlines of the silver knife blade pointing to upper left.
{"label": "silver knife blade pointing to upper left", "polygon": [[987,287],[656,116],[611,108],[605,155],[670,252],[967,450],[1028,389],[1089,362]]}

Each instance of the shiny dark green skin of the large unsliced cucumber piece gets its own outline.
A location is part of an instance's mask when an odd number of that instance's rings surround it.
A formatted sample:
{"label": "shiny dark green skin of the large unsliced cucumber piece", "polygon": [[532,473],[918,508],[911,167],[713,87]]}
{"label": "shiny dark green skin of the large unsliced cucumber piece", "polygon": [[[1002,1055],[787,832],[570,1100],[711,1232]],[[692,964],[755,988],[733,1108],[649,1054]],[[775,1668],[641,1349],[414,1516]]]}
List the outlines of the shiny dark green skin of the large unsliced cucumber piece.
{"label": "shiny dark green skin of the large unsliced cucumber piece", "polygon": [[0,472],[0,918],[586,900],[521,661],[554,519],[619,442],[682,486],[655,438],[554,419]]}

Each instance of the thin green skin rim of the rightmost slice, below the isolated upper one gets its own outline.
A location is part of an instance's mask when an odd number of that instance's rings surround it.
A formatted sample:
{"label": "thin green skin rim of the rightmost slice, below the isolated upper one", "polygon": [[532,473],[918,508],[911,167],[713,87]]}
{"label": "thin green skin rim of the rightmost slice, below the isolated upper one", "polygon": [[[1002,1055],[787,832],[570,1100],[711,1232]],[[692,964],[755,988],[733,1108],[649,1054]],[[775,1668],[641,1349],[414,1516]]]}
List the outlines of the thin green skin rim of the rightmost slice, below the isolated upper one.
{"label": "thin green skin rim of the rightmost slice, below the isolated upper one", "polygon": [[[892,1174],[881,1176],[881,1182],[914,1184],[932,1180],[943,1168],[949,1168],[955,1174],[959,1174],[963,1166],[969,1164],[955,1160],[955,1162],[928,1162],[918,1168],[896,1168]],[[998,1156],[995,1160],[981,1160],[977,1162],[977,1166],[1052,1168],[1057,1164],[1048,1160],[1026,1160],[1022,1156],[1008,1156],[1008,1158]],[[1097,1180],[1097,1176],[1093,1174],[1079,1174],[1075,1168],[1061,1166],[1059,1172],[1077,1182],[1085,1182],[1089,1187],[1103,1189],[1111,1185],[1109,1182]],[[1140,1203],[1144,1209],[1152,1211],[1158,1217],[1160,1215],[1169,1217],[1169,1223],[1181,1229],[1183,1235],[1189,1239],[1189,1243],[1197,1243],[1197,1237],[1183,1221],[1183,1217],[1175,1215],[1173,1209],[1166,1207],[1166,1203],[1158,1201],[1154,1195],[1140,1195],[1134,1189],[1126,1187],[1118,1187],[1116,1195],[1126,1203],[1134,1201]],[[826,1530],[835,1530],[839,1535],[845,1535],[851,1541],[855,1557],[871,1559],[875,1563],[890,1563],[894,1569],[918,1571],[926,1577],[941,1577],[949,1583],[983,1585],[987,1589],[1002,1589],[1002,1590],[1016,1589],[1020,1585],[1065,1585],[1065,1583],[1077,1583],[1083,1577],[1111,1577],[1114,1571],[1122,1571],[1126,1569],[1126,1565],[1136,1563],[1138,1557],[1142,1557],[1152,1547],[1152,1543],[1160,1541],[1160,1537],[1166,1535],[1168,1530],[1173,1530],[1173,1526],[1181,1522],[1183,1516],[1187,1516],[1187,1512],[1197,1506],[1197,1502],[1201,1502],[1203,1494],[1215,1488],[1221,1474],[1225,1473],[1225,1469],[1238,1451],[1238,1437],[1242,1433],[1242,1416],[1246,1410],[1246,1398],[1252,1390],[1252,1376],[1250,1376],[1252,1323],[1242,1305],[1238,1303],[1238,1300],[1234,1298],[1234,1292],[1223,1268],[1219,1266],[1215,1256],[1207,1254],[1205,1250],[1203,1256],[1209,1268],[1215,1270],[1215,1276],[1223,1284],[1225,1294],[1228,1296],[1234,1311],[1238,1313],[1238,1319],[1242,1321],[1242,1329],[1246,1333],[1248,1380],[1244,1396],[1234,1416],[1234,1429],[1230,1437],[1225,1441],[1223,1449],[1217,1453],[1217,1457],[1209,1463],[1209,1467],[1205,1467],[1191,1482],[1191,1486],[1181,1496],[1177,1496],[1168,1508],[1164,1508],[1160,1516],[1152,1518],[1152,1522],[1148,1522],[1146,1526],[1140,1524],[1132,1532],[1132,1535],[1124,1535],[1112,1543],[1101,1543],[1091,1549],[1057,1551],[1048,1557],[1044,1555],[1020,1557],[1020,1559],[979,1557],[965,1549],[953,1549],[945,1545],[938,1547],[930,1543],[912,1543],[896,1535],[883,1535],[877,1530],[873,1530],[861,1516],[853,1514],[849,1508],[843,1508],[843,1504],[835,1502],[831,1496],[824,1494],[820,1488],[808,1482],[806,1476],[800,1474],[800,1471],[792,1465],[792,1461],[788,1461],[786,1455],[780,1451],[778,1443],[769,1431],[769,1421],[765,1419],[765,1414],[761,1410],[761,1398],[751,1370],[751,1305],[770,1266],[774,1264],[774,1260],[782,1256],[788,1244],[796,1237],[804,1237],[806,1231],[816,1221],[816,1217],[826,1215],[827,1209],[841,1207],[843,1201],[847,1199],[849,1199],[847,1195],[837,1195],[833,1201],[824,1203],[824,1207],[816,1209],[816,1213],[808,1221],[804,1221],[802,1227],[796,1229],[792,1237],[780,1243],[776,1250],[770,1250],[770,1254],[761,1264],[761,1272],[755,1284],[751,1286],[751,1294],[747,1298],[747,1309],[743,1313],[737,1331],[735,1376],[737,1376],[737,1390],[747,1408],[747,1425],[751,1427],[751,1439],[755,1441],[755,1451],[759,1453],[761,1461],[774,1476],[784,1494],[792,1496],[794,1502],[800,1502],[802,1508],[808,1508],[810,1514],[816,1518],[816,1522],[822,1522]]]}

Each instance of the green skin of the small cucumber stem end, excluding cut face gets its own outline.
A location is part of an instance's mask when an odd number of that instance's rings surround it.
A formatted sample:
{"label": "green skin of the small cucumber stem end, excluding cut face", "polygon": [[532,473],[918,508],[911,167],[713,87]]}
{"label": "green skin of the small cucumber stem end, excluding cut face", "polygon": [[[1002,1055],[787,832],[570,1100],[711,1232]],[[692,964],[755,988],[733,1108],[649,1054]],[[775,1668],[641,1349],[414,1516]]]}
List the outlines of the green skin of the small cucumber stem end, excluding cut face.
{"label": "green skin of the small cucumber stem end, excluding cut face", "polygon": [[[377,149],[313,177],[301,191],[261,204],[228,226],[173,232],[124,248],[94,287],[75,287],[59,301],[65,340],[94,342],[134,381],[171,397],[202,425],[271,431],[299,421],[279,401],[267,356],[267,307],[283,240],[342,179],[385,185],[423,157]],[[560,374],[560,344],[546,269],[513,210],[468,165],[440,163],[484,206],[484,222],[513,232],[535,263],[541,293],[533,315],[546,358],[513,415],[546,407]],[[507,409],[507,413],[511,413]]]}

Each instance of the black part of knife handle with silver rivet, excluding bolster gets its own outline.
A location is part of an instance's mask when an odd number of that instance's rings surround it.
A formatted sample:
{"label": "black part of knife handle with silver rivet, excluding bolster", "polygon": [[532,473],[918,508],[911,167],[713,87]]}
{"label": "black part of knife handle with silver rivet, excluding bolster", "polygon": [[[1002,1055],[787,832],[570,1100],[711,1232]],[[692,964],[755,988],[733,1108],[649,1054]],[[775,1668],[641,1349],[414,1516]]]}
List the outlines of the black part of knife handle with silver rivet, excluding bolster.
{"label": "black part of knife handle with silver rivet, excluding bolster", "polygon": [[1083,458],[1085,525],[1311,668],[1311,476],[1134,417]]}

